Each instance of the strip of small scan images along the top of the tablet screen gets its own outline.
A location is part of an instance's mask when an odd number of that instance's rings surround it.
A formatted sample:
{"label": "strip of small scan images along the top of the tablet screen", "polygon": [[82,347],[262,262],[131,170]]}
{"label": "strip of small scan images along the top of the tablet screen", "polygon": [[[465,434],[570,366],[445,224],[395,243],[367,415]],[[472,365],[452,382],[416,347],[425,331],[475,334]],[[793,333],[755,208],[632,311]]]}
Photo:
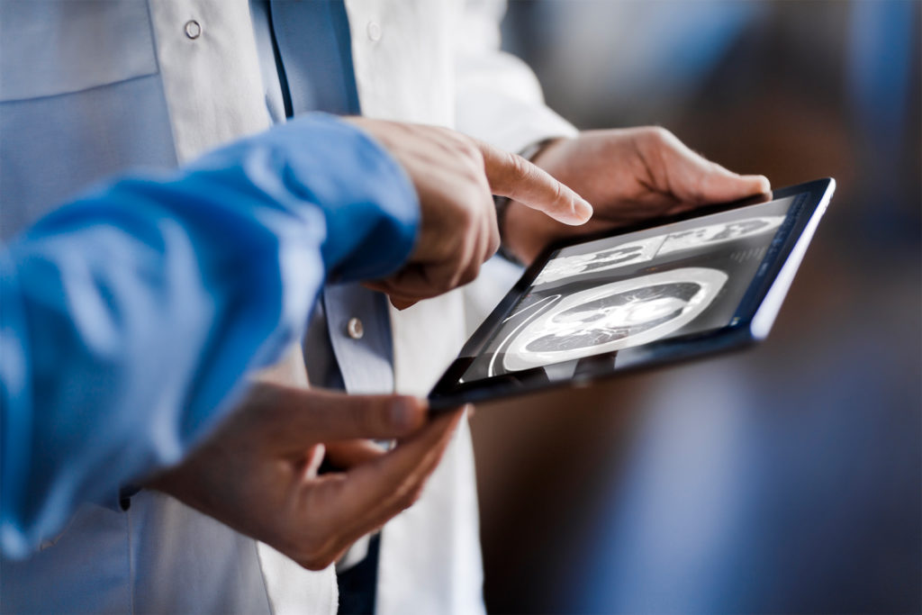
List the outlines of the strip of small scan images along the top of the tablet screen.
{"label": "strip of small scan images along the top of the tablet screen", "polygon": [[[550,284],[563,278],[584,273],[609,271],[622,266],[637,265],[656,256],[673,254],[683,250],[716,245],[774,231],[781,226],[784,216],[758,216],[753,218],[720,222],[687,231],[674,231],[648,239],[627,243],[615,243],[609,247],[587,254],[561,255],[551,259],[535,278],[535,285]],[[617,241],[617,240],[616,240]]]}

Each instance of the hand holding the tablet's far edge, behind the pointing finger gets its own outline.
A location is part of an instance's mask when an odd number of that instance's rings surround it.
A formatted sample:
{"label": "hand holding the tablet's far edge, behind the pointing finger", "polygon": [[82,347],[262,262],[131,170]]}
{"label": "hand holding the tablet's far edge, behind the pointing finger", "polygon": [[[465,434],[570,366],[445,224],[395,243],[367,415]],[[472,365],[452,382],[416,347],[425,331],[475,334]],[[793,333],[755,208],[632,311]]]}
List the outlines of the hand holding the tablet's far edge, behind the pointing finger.
{"label": "hand holding the tablet's far edge, behind the pointing finger", "polygon": [[578,229],[513,201],[503,220],[506,248],[531,263],[550,242],[768,193],[762,175],[738,175],[703,159],[660,127],[586,131],[542,149],[535,164],[595,207]]}

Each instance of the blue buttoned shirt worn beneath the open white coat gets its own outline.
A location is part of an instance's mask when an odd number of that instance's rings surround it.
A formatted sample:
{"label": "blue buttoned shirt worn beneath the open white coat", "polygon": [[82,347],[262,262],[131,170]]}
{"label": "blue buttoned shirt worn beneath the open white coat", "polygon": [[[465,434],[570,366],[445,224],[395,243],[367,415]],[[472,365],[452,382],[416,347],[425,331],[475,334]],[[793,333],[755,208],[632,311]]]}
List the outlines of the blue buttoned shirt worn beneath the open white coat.
{"label": "blue buttoned shirt worn beneath the open white coat", "polygon": [[[361,112],[342,0],[250,0],[250,12],[266,107],[274,122],[312,111]],[[393,342],[387,310],[384,295],[359,284],[326,286],[304,341],[311,383],[350,393],[391,391]],[[352,319],[362,323],[361,338],[348,334]]]}

